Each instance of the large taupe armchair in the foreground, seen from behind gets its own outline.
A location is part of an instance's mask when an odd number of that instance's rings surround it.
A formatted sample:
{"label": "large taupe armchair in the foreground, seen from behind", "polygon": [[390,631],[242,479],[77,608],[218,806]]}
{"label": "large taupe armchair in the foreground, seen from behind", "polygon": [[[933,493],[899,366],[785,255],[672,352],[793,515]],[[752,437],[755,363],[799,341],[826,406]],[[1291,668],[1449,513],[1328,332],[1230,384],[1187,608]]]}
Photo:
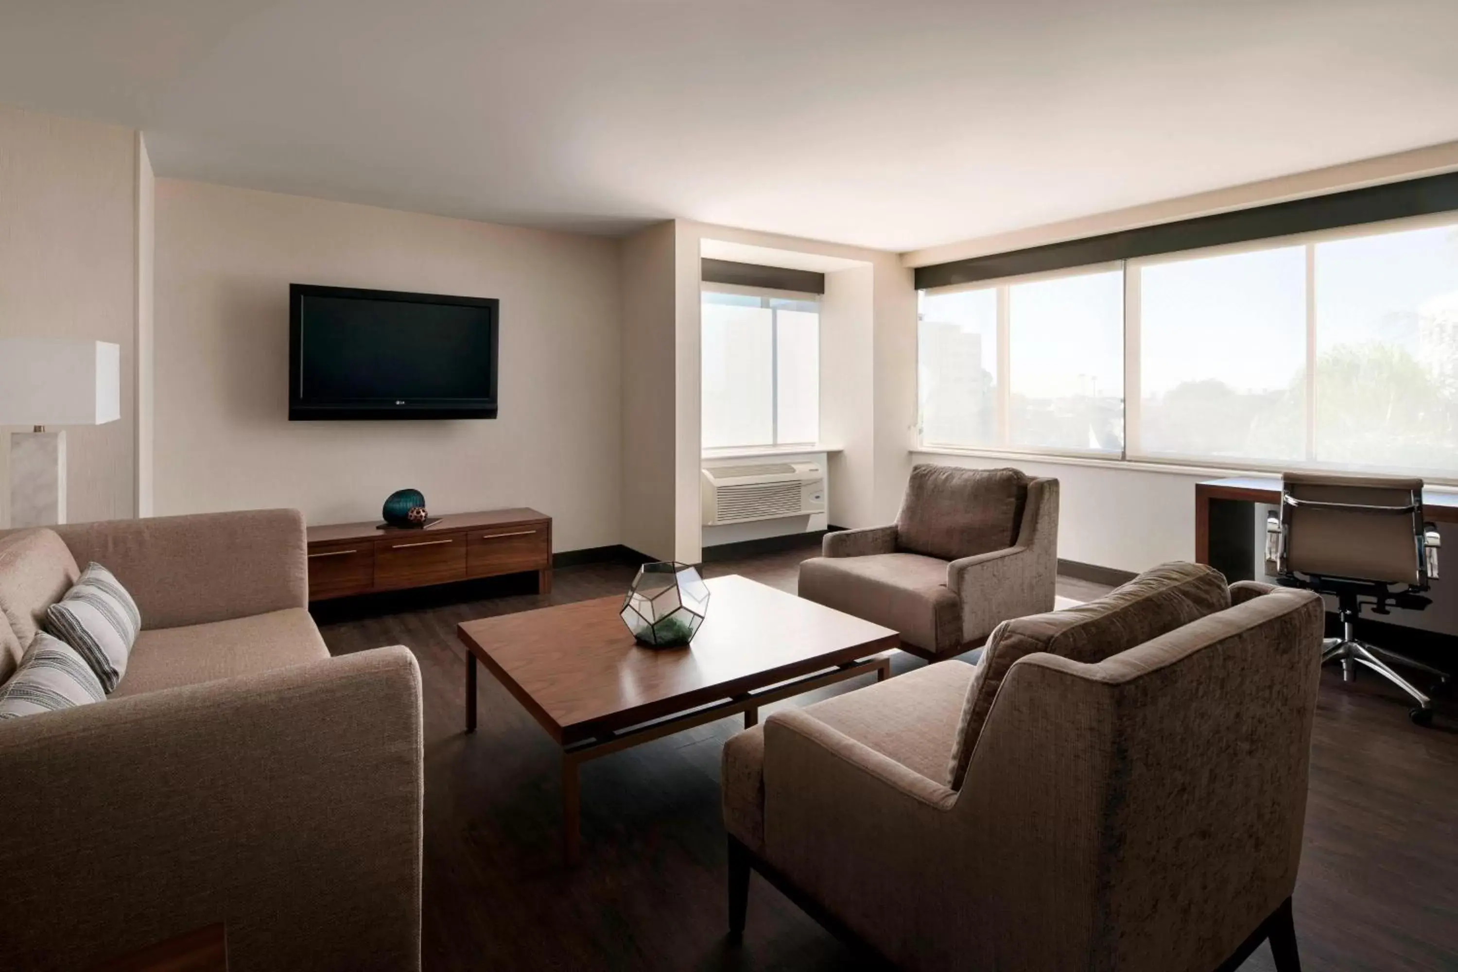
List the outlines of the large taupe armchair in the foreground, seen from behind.
{"label": "large taupe armchair in the foreground, seen from behind", "polygon": [[907,969],[1210,972],[1270,938],[1295,972],[1321,632],[1315,595],[1171,565],[770,716],[725,746],[730,930],[752,867]]}

